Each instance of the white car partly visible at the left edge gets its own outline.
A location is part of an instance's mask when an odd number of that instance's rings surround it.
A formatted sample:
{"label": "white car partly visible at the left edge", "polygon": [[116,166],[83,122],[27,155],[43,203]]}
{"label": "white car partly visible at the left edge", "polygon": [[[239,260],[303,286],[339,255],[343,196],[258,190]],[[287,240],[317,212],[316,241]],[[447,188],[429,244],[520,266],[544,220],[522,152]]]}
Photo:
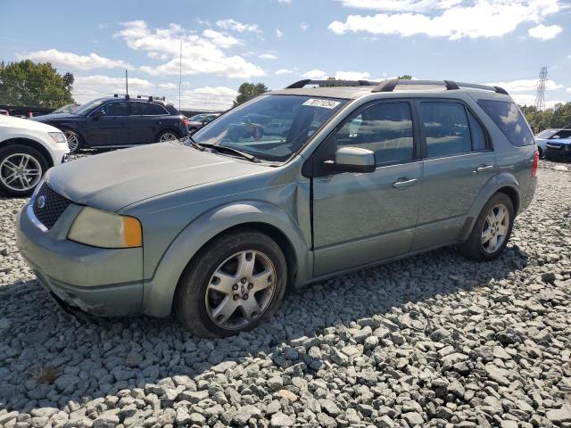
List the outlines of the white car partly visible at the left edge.
{"label": "white car partly visible at the left edge", "polygon": [[0,193],[28,196],[47,169],[68,160],[69,152],[58,128],[0,115]]}

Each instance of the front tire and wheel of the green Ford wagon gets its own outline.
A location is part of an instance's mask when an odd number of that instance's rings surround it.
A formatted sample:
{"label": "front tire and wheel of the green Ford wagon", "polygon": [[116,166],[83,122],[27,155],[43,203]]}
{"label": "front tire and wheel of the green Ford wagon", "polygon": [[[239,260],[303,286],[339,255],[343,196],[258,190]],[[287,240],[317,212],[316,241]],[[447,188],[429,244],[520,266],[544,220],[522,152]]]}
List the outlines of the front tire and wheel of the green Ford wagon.
{"label": "front tire and wheel of the green Ford wagon", "polygon": [[[245,260],[242,272],[238,258]],[[246,273],[243,282],[240,276],[249,267],[258,277]],[[230,232],[208,243],[188,264],[173,306],[186,329],[201,337],[226,337],[271,317],[284,296],[286,278],[284,253],[268,235],[251,229]],[[254,310],[249,319],[246,309]]]}

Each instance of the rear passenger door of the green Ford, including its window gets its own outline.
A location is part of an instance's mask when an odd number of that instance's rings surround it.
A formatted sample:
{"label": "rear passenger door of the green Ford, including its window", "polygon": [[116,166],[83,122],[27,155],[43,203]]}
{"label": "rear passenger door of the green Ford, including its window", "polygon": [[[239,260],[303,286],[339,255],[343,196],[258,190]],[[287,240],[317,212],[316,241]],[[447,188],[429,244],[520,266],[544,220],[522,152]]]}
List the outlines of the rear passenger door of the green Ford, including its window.
{"label": "rear passenger door of the green Ford, including its window", "polygon": [[412,250],[453,243],[496,158],[482,124],[464,103],[418,101],[424,177]]}

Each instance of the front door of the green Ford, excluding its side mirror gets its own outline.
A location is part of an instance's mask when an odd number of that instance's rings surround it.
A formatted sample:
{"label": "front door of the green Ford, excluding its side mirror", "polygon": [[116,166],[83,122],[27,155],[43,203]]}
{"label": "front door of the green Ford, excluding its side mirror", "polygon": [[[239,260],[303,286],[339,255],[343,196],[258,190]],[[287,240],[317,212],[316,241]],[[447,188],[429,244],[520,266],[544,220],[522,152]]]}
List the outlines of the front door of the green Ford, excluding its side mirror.
{"label": "front door of the green Ford, excluding its side mirror", "polygon": [[[314,153],[314,276],[356,268],[410,250],[418,218],[422,161],[412,104],[368,104]],[[371,173],[334,173],[323,162],[342,146],[375,152]]]}

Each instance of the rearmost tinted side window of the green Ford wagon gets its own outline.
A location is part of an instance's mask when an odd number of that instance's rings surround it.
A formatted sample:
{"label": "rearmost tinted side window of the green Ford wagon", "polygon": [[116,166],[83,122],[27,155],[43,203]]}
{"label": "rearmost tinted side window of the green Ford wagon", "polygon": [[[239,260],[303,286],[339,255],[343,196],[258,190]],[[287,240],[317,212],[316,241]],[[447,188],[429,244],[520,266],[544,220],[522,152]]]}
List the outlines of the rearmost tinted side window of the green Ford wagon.
{"label": "rearmost tinted side window of the green Ford wagon", "polygon": [[513,145],[534,144],[527,122],[516,103],[507,101],[479,100],[478,105],[484,109],[490,119],[501,129],[501,132]]}

